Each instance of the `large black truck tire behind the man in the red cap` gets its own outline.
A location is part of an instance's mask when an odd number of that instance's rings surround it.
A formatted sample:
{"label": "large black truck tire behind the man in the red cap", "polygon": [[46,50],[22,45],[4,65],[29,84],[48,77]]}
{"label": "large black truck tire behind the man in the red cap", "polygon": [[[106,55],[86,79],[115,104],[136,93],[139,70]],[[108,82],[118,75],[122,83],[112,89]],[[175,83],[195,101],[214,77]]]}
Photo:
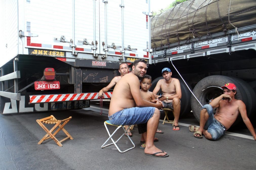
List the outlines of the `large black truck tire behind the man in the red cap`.
{"label": "large black truck tire behind the man in the red cap", "polygon": [[[255,98],[255,94],[252,93],[253,90],[249,84],[241,79],[222,75],[208,76],[197,83],[193,93],[202,105],[208,104],[210,99],[214,99],[223,93],[221,86],[226,83],[234,83],[237,86],[237,94],[235,98],[242,100],[245,103],[247,108],[247,115],[250,116],[252,111],[255,110],[255,106],[252,107],[252,103],[255,101],[253,100]],[[200,122],[201,105],[193,95],[191,96],[191,108],[194,116]],[[240,122],[241,119],[238,118],[232,127],[238,125]]]}

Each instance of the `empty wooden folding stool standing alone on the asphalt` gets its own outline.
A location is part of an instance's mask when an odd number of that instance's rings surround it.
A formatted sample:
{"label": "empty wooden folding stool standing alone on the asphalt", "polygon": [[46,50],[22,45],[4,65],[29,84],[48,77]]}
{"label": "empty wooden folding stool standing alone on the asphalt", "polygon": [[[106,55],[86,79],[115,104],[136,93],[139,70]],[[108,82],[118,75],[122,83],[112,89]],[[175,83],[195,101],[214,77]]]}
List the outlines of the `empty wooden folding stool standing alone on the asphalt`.
{"label": "empty wooden folding stool standing alone on the asphalt", "polygon": [[[67,140],[68,138],[73,139],[72,136],[68,133],[68,131],[66,129],[64,129],[64,126],[70,121],[70,119],[72,119],[71,116],[69,118],[67,118],[67,119],[64,119],[64,120],[57,120],[53,115],[51,115],[49,117],[42,118],[42,119],[37,119],[36,122],[45,130],[45,132],[47,132],[47,134],[38,142],[38,144],[41,144],[43,141],[52,138],[52,140],[54,140],[57,143],[57,145],[62,146],[61,142]],[[43,123],[45,123],[45,124],[55,124],[55,125],[51,128],[51,130],[48,130]],[[52,132],[58,126],[59,126],[59,128],[52,134]],[[59,141],[55,137],[55,135],[60,130],[62,130],[67,135],[67,137],[62,139],[61,141]]]}

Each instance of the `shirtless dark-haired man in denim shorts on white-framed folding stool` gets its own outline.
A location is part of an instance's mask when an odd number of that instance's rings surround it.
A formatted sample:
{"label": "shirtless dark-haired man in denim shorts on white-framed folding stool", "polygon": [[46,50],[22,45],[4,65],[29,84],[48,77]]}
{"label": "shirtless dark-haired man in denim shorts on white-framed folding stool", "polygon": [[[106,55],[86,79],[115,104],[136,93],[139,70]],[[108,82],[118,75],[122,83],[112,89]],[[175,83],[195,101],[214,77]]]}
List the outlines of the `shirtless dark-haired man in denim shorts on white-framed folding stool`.
{"label": "shirtless dark-haired man in denim shorts on white-framed folding stool", "polygon": [[[124,75],[114,88],[109,106],[109,121],[113,125],[134,125],[147,122],[147,145],[145,155],[167,157],[163,150],[154,145],[154,136],[159,124],[161,101],[151,103],[144,100],[140,93],[139,78],[147,72],[147,62],[137,59],[133,62],[132,72]],[[138,107],[135,107],[137,105]]]}

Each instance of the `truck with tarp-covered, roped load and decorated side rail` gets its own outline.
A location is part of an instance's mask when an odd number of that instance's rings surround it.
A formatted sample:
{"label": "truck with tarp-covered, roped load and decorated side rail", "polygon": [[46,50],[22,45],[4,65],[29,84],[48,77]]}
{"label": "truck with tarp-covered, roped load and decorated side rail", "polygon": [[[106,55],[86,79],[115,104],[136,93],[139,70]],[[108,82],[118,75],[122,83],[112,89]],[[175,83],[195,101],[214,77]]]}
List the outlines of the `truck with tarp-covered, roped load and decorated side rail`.
{"label": "truck with tarp-covered, roped load and decorated side rail", "polygon": [[[154,16],[152,64],[147,74],[155,80],[150,90],[162,79],[161,70],[170,67],[183,89],[181,114],[192,109],[199,121],[201,104],[219,96],[220,87],[231,82],[252,118],[256,111],[255,16],[254,0],[190,0]],[[201,104],[178,73],[194,88]]]}

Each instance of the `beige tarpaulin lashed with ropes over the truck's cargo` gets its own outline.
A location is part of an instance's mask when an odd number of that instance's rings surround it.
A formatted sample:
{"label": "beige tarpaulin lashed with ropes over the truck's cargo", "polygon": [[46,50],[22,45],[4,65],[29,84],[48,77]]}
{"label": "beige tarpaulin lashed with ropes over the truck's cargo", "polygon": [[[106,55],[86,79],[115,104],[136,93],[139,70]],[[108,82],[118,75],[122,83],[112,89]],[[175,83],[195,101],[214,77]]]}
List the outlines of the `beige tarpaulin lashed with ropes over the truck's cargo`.
{"label": "beige tarpaulin lashed with ropes over the truck's cargo", "polygon": [[[151,18],[152,48],[256,24],[255,0],[190,0]],[[238,33],[238,32],[237,32]]]}

